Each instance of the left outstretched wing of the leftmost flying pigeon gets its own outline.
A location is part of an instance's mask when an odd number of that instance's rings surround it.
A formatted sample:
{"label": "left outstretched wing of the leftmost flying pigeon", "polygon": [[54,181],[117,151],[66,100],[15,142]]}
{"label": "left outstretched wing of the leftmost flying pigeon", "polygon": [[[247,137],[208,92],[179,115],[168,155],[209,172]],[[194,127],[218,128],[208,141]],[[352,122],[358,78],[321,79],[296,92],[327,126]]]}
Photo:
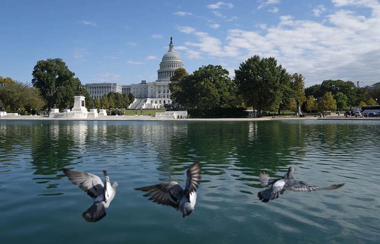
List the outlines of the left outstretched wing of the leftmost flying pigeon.
{"label": "left outstretched wing of the leftmost flying pigeon", "polygon": [[63,173],[73,184],[79,185],[92,198],[103,193],[104,184],[98,176],[72,169],[63,169]]}

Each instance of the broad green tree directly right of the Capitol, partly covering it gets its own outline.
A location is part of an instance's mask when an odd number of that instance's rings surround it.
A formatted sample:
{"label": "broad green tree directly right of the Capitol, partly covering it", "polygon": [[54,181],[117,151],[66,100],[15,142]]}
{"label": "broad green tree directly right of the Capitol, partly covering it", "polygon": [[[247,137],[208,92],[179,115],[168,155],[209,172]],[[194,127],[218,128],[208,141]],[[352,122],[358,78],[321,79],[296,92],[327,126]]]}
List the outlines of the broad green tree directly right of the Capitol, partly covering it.
{"label": "broad green tree directly right of the Capitol, partly covering it", "polygon": [[220,65],[202,66],[190,75],[177,69],[171,80],[172,99],[187,109],[204,111],[237,105],[236,85]]}

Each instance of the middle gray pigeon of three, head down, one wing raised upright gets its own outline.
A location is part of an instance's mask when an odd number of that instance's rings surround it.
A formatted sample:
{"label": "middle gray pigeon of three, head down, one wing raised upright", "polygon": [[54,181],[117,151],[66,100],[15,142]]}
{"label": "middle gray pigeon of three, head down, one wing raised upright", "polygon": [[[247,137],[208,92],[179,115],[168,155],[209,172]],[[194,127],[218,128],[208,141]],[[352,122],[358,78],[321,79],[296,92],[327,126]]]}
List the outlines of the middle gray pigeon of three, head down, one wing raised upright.
{"label": "middle gray pigeon of three, head down, one wing raised upright", "polygon": [[144,196],[149,200],[162,205],[172,206],[181,210],[182,217],[186,217],[194,210],[196,202],[196,188],[200,183],[200,163],[196,162],[187,171],[185,190],[178,182],[165,182],[149,185],[135,190],[147,191]]}

